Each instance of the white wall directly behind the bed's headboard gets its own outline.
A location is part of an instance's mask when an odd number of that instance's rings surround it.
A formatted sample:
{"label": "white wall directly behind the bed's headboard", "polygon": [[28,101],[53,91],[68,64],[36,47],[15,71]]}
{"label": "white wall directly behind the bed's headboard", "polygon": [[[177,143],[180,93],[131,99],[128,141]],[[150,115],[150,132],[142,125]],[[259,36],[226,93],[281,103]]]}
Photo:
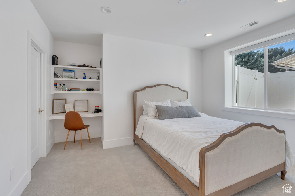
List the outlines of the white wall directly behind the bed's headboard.
{"label": "white wall directly behind the bed's headboard", "polygon": [[178,86],[202,111],[199,50],[104,34],[103,61],[104,148],[133,143],[133,91],[145,86]]}

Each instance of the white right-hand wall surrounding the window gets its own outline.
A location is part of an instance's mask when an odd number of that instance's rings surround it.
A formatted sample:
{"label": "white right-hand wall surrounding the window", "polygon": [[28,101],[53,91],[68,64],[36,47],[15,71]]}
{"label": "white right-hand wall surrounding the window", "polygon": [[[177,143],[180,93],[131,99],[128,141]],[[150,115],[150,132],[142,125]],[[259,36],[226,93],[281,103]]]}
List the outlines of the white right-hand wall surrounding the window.
{"label": "white right-hand wall surrounding the window", "polygon": [[[278,21],[269,26],[247,33],[243,36],[233,38],[216,46],[207,48],[202,51],[202,109],[208,115],[238,120],[241,122],[258,122],[266,125],[275,125],[278,129],[286,131],[286,138],[291,142],[292,148],[295,150],[295,132],[294,120],[289,118],[279,118],[266,116],[264,113],[253,115],[240,112],[224,111],[224,51],[235,48],[250,42],[259,43],[268,39],[272,39],[281,35],[294,33],[295,16]],[[227,71],[231,71],[228,69]],[[227,102],[231,103],[231,98],[227,98]],[[262,115],[261,115],[262,114]]]}

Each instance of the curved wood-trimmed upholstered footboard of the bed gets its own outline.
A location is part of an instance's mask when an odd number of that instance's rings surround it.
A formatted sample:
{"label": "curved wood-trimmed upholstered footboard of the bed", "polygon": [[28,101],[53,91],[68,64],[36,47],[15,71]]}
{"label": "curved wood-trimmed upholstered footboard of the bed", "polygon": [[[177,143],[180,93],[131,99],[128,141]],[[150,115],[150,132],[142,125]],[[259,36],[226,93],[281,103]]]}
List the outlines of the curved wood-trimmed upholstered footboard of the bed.
{"label": "curved wood-trimmed upholstered footboard of the bed", "polygon": [[285,166],[285,131],[275,126],[246,123],[222,134],[199,153],[199,195],[232,195]]}

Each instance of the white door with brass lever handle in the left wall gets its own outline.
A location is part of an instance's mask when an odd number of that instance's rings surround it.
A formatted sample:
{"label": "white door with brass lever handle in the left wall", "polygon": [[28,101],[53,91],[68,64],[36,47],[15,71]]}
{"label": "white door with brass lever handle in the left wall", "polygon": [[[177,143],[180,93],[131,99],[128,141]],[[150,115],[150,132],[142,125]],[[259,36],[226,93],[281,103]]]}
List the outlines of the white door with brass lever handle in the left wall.
{"label": "white door with brass lever handle in the left wall", "polygon": [[40,53],[31,46],[31,168],[40,158]]}

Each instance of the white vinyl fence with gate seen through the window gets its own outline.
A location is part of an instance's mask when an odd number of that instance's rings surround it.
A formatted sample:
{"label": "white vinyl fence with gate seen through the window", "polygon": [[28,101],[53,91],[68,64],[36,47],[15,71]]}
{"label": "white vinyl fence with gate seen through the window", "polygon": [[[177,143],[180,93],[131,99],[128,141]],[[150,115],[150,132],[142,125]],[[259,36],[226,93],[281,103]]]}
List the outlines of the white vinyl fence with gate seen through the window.
{"label": "white vinyl fence with gate seen through the window", "polygon": [[[236,106],[263,108],[263,73],[235,66]],[[268,107],[295,109],[295,71],[268,74]]]}

